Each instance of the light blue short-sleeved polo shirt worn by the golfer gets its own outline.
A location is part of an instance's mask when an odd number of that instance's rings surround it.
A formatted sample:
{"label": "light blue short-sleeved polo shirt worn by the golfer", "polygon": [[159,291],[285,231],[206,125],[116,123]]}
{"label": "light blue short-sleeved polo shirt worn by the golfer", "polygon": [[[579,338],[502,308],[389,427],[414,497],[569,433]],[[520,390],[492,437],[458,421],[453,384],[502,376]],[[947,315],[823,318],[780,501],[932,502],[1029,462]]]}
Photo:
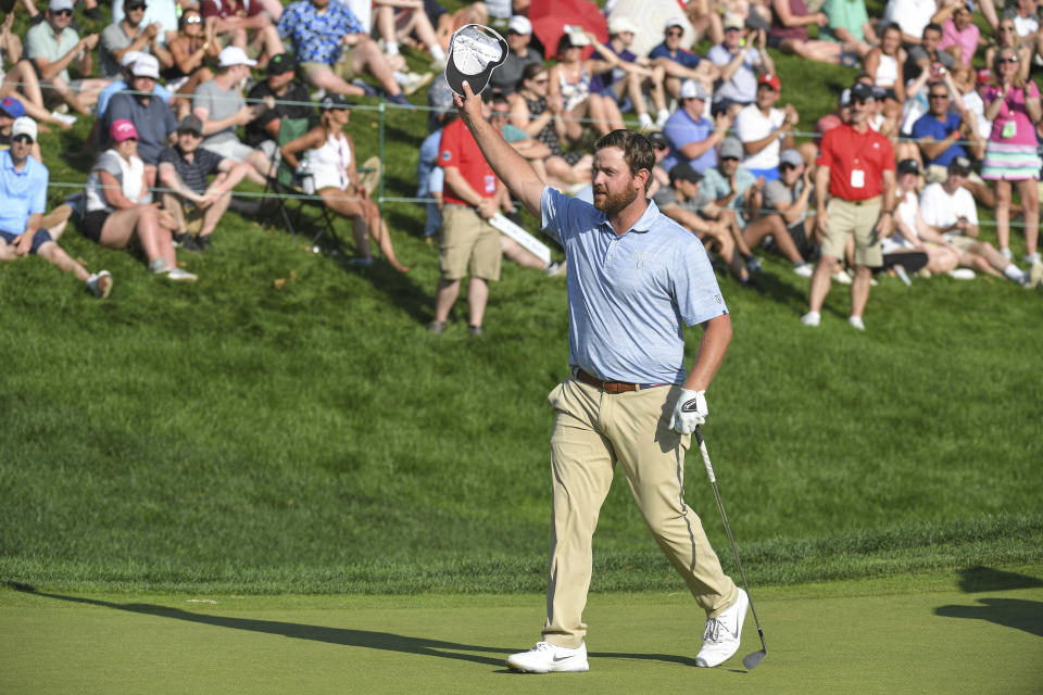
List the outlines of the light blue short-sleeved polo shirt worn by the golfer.
{"label": "light blue short-sleeved polo shirt worn by the golfer", "polygon": [[569,365],[607,381],[683,383],[683,324],[728,313],[703,243],[655,203],[618,236],[590,203],[546,187],[542,230],[568,255]]}

